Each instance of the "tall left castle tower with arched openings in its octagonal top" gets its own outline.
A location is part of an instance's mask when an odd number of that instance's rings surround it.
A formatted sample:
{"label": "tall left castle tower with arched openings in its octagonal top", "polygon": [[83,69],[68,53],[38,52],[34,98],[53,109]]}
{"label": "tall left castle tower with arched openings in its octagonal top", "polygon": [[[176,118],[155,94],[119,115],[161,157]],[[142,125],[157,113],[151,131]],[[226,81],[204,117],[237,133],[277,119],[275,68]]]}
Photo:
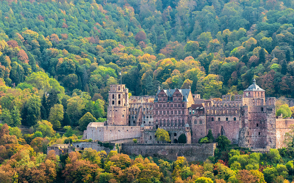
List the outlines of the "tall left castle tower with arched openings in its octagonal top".
{"label": "tall left castle tower with arched openings in its octagonal top", "polygon": [[127,126],[129,89],[125,84],[111,84],[108,94],[107,125]]}

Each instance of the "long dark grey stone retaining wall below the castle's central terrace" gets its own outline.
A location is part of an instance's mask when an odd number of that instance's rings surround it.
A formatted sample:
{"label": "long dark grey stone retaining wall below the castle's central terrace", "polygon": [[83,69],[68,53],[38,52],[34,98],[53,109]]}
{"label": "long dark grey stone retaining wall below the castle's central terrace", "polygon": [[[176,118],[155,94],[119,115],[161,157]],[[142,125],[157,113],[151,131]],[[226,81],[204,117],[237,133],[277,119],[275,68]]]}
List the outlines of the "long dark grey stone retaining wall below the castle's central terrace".
{"label": "long dark grey stone retaining wall below the castle's central terrace", "polygon": [[175,161],[184,156],[188,161],[205,161],[214,156],[216,144],[121,144],[121,152],[128,155],[154,156]]}

